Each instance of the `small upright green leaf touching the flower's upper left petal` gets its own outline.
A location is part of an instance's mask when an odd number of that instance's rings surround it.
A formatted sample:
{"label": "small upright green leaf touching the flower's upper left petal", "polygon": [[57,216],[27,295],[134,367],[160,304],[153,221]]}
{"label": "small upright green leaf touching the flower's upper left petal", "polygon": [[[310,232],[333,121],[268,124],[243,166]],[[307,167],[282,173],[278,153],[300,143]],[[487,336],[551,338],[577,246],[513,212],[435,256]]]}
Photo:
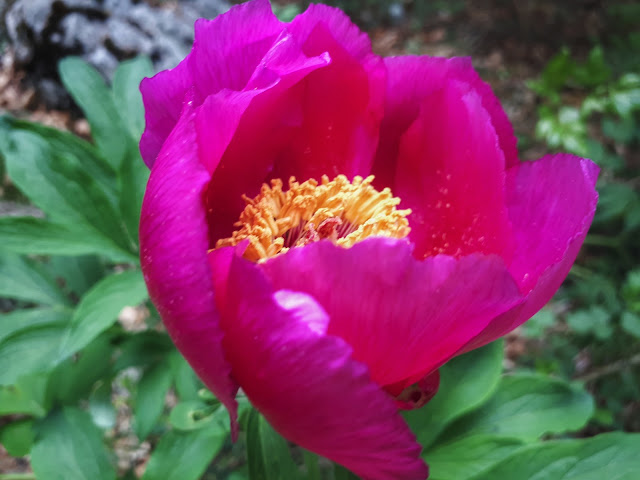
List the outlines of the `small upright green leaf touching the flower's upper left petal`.
{"label": "small upright green leaf touching the flower's upper left petal", "polygon": [[144,132],[144,105],[140,82],[153,75],[153,65],[147,57],[122,62],[113,77],[113,96],[121,118],[134,140]]}

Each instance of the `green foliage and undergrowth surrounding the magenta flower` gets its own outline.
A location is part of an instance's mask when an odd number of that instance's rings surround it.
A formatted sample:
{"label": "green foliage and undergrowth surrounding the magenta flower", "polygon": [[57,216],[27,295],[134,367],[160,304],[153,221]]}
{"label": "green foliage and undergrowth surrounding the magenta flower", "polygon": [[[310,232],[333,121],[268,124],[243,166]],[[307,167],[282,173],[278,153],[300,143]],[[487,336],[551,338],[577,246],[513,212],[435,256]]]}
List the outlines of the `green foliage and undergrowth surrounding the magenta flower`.
{"label": "green foliage and undergrowth surrounding the magenta flower", "polygon": [[[472,55],[523,159],[570,151],[603,169],[593,228],[556,298],[504,344],[444,367],[438,396],[407,414],[432,478],[530,478],[571,461],[544,478],[596,478],[580,476],[585,462],[636,478],[637,437],[620,432],[640,431],[640,3],[334,3],[382,55]],[[304,5],[274,7],[286,18]],[[65,125],[84,117],[91,137],[29,121],[33,108],[0,118],[12,206],[0,217],[0,479],[349,478],[290,449],[246,402],[232,444],[146,301],[137,84],[151,73],[132,60],[108,86],[77,59],[60,65],[78,107]]]}

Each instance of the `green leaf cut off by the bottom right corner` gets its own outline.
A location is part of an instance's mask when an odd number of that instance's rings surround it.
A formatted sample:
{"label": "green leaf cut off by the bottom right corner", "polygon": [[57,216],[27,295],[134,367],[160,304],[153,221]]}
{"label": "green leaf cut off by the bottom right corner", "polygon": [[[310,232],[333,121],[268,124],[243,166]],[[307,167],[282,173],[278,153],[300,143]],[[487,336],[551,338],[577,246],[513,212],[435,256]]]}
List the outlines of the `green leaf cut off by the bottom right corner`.
{"label": "green leaf cut off by the bottom right corner", "polygon": [[520,450],[473,480],[636,480],[640,435],[609,433],[559,440]]}

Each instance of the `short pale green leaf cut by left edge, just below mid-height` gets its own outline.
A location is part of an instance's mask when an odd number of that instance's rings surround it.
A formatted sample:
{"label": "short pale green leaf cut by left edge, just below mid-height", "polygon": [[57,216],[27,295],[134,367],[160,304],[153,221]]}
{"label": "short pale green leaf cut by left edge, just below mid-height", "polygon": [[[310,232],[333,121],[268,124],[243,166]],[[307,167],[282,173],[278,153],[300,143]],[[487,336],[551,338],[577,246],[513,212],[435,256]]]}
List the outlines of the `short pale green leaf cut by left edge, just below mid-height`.
{"label": "short pale green leaf cut by left edge, just below mid-height", "polygon": [[0,252],[0,296],[45,305],[70,305],[62,289],[36,262]]}

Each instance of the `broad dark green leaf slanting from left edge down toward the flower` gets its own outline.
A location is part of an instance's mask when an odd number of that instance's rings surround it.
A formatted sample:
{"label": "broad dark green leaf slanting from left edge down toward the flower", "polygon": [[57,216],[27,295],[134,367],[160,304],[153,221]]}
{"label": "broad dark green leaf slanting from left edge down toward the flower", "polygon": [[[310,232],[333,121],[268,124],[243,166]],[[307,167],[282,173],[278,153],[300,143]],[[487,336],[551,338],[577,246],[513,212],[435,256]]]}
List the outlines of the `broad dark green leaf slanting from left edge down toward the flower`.
{"label": "broad dark green leaf slanting from left edge down toward the flower", "polygon": [[116,248],[131,248],[112,199],[87,173],[81,159],[53,150],[31,132],[14,131],[10,139],[3,151],[9,176],[52,221],[104,236]]}

